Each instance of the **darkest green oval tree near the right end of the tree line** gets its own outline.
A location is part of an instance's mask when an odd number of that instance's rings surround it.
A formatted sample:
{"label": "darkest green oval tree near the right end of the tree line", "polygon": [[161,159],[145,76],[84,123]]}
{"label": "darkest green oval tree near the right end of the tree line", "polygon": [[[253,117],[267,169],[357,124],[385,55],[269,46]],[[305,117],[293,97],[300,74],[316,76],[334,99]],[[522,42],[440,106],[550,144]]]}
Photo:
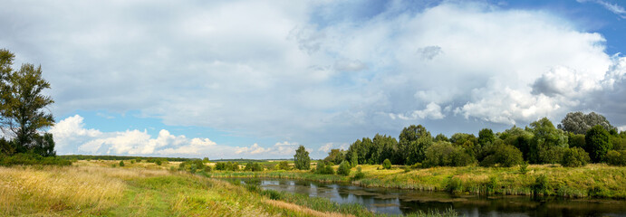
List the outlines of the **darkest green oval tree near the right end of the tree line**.
{"label": "darkest green oval tree near the right end of the tree line", "polygon": [[584,136],[585,151],[589,153],[592,162],[604,162],[606,153],[612,149],[609,142],[609,132],[601,125],[596,125],[589,130]]}

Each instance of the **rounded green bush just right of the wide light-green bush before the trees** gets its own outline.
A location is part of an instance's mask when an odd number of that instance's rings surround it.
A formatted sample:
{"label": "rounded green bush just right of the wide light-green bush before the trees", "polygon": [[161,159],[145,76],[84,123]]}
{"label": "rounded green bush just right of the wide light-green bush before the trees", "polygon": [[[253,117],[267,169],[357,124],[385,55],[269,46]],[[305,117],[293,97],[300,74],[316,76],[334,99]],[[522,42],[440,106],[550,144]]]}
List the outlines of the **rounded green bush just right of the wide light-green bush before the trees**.
{"label": "rounded green bush just right of the wide light-green bush before the trees", "polygon": [[522,152],[520,152],[515,146],[510,145],[496,145],[492,146],[488,150],[488,155],[480,162],[482,166],[503,166],[511,167],[519,165],[524,162]]}

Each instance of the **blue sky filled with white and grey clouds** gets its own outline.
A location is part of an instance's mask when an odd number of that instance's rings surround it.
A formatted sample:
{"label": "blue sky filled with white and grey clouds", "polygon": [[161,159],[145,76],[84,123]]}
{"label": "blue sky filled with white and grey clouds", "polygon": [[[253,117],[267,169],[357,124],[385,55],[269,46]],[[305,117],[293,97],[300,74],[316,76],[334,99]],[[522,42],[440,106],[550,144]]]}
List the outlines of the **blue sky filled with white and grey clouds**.
{"label": "blue sky filled with white and grey clouds", "polygon": [[3,0],[58,155],[313,158],[597,112],[626,130],[626,2]]}

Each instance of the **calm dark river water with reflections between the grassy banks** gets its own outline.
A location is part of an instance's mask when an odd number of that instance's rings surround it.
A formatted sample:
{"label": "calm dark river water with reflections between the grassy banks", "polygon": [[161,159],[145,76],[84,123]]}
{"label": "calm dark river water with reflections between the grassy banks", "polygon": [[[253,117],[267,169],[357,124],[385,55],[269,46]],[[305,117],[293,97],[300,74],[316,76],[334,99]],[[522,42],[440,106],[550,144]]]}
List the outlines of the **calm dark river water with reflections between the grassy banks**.
{"label": "calm dark river water with reflections between the grassy banks", "polygon": [[278,179],[231,179],[309,196],[326,197],[337,203],[361,203],[373,212],[403,214],[445,210],[449,207],[466,216],[626,216],[626,201],[576,200],[528,196],[477,195],[423,192],[361,187],[350,184],[323,184],[311,181]]}

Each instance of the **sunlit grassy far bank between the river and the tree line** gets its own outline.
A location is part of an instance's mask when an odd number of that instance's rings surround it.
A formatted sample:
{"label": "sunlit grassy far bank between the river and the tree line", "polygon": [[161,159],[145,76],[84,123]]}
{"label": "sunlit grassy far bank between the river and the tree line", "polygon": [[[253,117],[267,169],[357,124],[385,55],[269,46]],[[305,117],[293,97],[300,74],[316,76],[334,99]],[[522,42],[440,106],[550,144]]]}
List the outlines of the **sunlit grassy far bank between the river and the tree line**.
{"label": "sunlit grassy far bank between the river and the tree line", "polygon": [[[335,166],[336,167],[336,166]],[[561,165],[528,165],[527,172],[519,167],[433,167],[425,169],[379,170],[380,165],[361,165],[364,177],[351,180],[350,176],[316,175],[308,171],[212,172],[209,177],[266,177],[301,179],[317,182],[344,182],[366,187],[448,191],[452,193],[479,193],[504,195],[533,195],[537,178],[544,176],[544,190],[539,195],[576,198],[626,198],[626,167],[601,164],[583,167]],[[540,180],[541,182],[542,180]]]}

